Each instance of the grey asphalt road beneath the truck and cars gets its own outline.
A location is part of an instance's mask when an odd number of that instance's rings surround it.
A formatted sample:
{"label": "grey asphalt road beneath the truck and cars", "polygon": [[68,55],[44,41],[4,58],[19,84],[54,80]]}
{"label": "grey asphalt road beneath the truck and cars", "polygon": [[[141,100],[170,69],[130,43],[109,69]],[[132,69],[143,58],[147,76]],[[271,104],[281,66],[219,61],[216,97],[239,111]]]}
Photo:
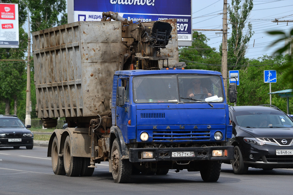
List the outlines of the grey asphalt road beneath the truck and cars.
{"label": "grey asphalt road beneath the truck and cars", "polygon": [[0,194],[293,194],[293,169],[249,168],[247,175],[235,175],[231,165],[222,164],[217,182],[203,182],[199,172],[170,170],[116,184],[108,162],[96,166],[91,177],[58,176],[46,147],[0,148]]}

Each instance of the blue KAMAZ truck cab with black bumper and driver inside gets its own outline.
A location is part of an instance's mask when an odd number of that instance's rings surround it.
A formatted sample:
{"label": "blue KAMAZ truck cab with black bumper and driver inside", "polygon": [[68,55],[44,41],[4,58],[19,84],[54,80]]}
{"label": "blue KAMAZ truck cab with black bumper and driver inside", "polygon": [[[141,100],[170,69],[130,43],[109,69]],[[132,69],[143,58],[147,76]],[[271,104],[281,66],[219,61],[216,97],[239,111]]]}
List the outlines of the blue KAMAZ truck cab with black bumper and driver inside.
{"label": "blue KAMAZ truck cab with black bumper and driver inside", "polygon": [[[221,160],[233,156],[233,147],[225,146],[232,128],[223,88],[217,71],[116,71],[110,142],[120,139],[120,148],[124,148],[120,156],[129,159],[136,172],[205,172],[204,164],[210,162],[220,167]],[[114,161],[112,151],[112,173]]]}

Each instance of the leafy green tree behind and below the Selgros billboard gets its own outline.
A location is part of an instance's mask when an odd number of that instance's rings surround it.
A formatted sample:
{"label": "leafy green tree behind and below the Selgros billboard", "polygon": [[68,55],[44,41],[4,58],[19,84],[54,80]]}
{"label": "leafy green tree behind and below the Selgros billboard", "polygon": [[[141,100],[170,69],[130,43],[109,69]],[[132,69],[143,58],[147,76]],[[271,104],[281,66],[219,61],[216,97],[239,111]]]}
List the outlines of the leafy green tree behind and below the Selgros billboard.
{"label": "leafy green tree behind and below the Selgros billboard", "polygon": [[[2,1],[2,3],[19,3],[18,0]],[[11,106],[14,105],[14,114],[16,114],[17,102],[21,99],[21,90],[25,81],[23,73],[25,72],[25,62],[12,61],[21,60],[25,57],[27,51],[27,33],[22,28],[27,18],[25,5],[18,4],[19,15],[19,48],[0,48],[0,59],[11,60],[0,62],[0,101],[5,109],[5,114],[11,113]],[[3,113],[3,112],[2,112]]]}

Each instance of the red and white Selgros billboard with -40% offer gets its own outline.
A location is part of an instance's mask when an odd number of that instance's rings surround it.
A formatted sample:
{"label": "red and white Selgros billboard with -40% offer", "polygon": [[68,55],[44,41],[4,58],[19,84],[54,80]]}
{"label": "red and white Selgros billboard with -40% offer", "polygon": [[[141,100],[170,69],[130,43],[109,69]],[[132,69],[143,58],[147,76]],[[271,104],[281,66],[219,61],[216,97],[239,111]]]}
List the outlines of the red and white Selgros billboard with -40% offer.
{"label": "red and white Selgros billboard with -40% offer", "polygon": [[18,48],[18,4],[0,3],[0,47]]}

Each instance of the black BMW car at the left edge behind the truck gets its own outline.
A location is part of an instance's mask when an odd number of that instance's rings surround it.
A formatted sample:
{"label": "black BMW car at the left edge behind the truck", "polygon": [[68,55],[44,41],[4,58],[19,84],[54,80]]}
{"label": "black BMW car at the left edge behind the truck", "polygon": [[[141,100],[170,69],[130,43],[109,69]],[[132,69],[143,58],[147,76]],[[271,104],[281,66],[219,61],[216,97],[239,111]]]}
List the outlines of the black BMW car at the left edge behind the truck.
{"label": "black BMW car at the left edge behind the truck", "polygon": [[34,135],[16,115],[0,115],[0,147],[33,149]]}

